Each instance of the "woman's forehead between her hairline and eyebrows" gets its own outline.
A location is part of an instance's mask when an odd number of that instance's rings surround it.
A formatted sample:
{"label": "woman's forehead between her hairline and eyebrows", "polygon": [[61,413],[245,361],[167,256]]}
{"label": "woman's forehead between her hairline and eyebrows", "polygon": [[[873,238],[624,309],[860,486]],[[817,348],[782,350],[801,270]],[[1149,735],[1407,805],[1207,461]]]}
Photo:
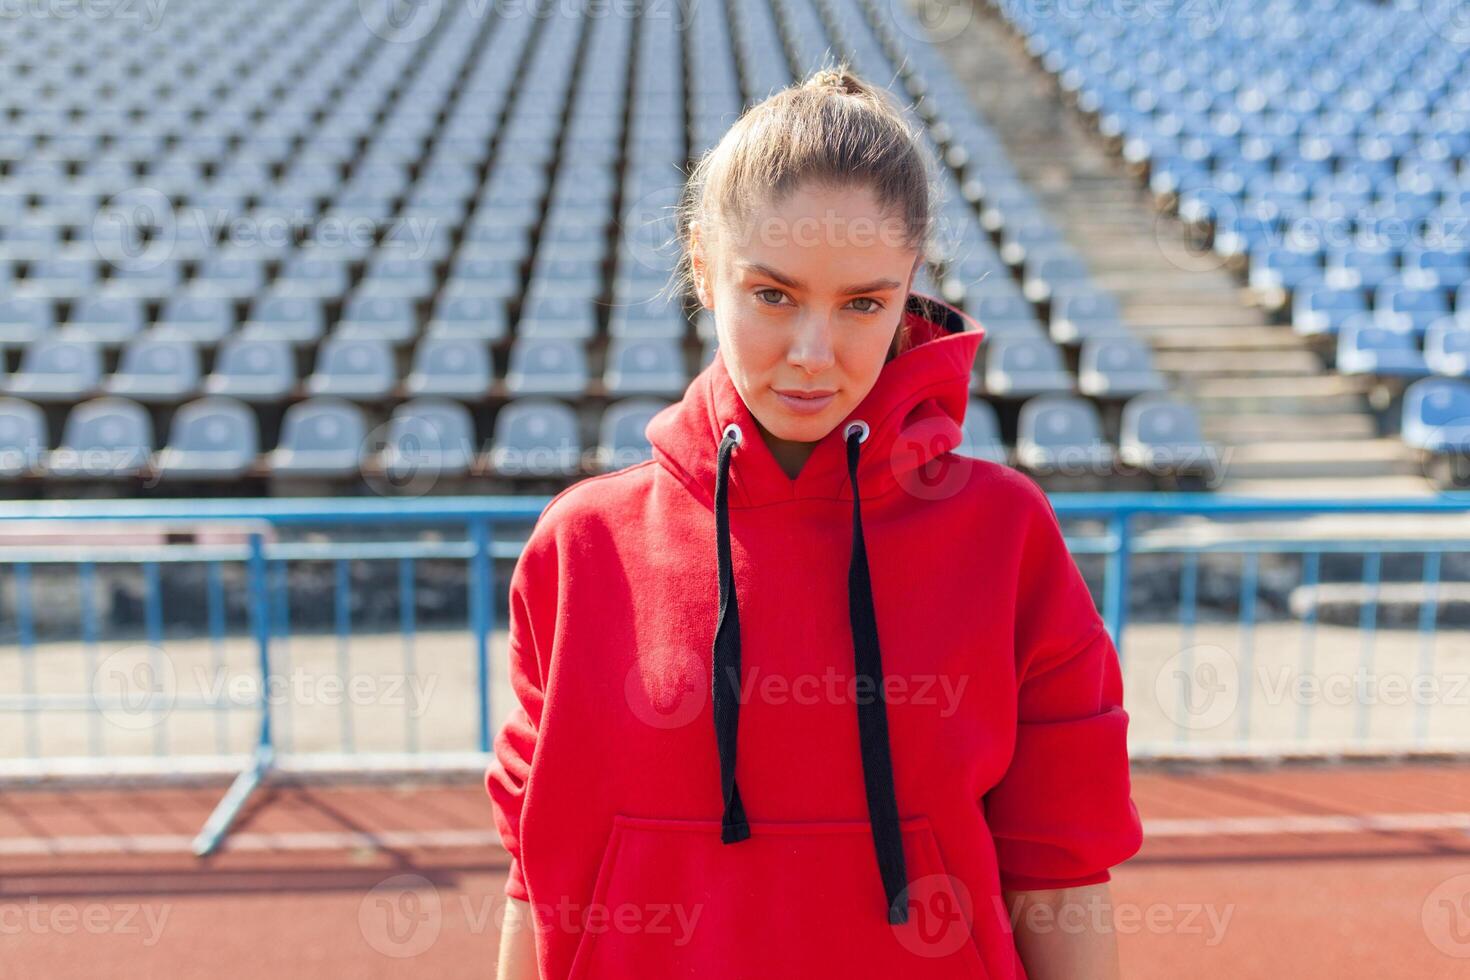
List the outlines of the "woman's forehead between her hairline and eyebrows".
{"label": "woman's forehead between her hairline and eyebrows", "polygon": [[916,256],[901,213],[885,212],[861,185],[800,187],[720,234],[720,262],[732,275],[763,264],[814,289],[864,276],[903,278]]}

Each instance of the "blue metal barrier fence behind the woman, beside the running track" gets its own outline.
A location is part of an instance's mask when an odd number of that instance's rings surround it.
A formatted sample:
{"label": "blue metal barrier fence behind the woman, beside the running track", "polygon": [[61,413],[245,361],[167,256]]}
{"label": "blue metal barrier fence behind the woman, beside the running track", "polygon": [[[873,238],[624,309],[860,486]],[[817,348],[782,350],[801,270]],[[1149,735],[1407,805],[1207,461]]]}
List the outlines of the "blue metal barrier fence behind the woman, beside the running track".
{"label": "blue metal barrier fence behind the woman, beside the running track", "polygon": [[[495,563],[516,558],[547,500],[6,504],[0,776],[235,773],[203,854],[276,768],[481,768],[503,686]],[[1051,500],[1120,651],[1135,757],[1470,749],[1444,710],[1470,676],[1470,495]],[[1304,533],[1349,517],[1351,530]],[[1420,525],[1391,523],[1408,517]],[[431,566],[442,574],[422,580]],[[129,645],[101,652],[118,642]],[[1338,705],[1297,691],[1301,677],[1382,680],[1410,648],[1411,679],[1439,685],[1429,698],[1358,692]],[[416,691],[425,679],[450,682],[432,714],[422,691],[388,693],[387,680]],[[340,692],[359,682],[360,702]]]}

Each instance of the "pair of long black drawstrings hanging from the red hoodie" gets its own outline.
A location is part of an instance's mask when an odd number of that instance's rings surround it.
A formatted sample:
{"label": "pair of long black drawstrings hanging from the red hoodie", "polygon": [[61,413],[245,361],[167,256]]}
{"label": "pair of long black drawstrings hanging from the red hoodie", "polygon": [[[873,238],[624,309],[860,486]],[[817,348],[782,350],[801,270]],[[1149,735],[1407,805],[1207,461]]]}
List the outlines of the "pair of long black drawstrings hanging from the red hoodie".
{"label": "pair of long black drawstrings hanging from the red hoodie", "polygon": [[[883,691],[883,663],[878,645],[878,616],[873,611],[873,582],[867,569],[867,547],[863,541],[863,504],[857,491],[858,445],[867,426],[854,423],[847,432],[847,472],[853,485],[853,561],[848,567],[848,616],[853,623],[853,660],[858,689],[875,691],[876,699],[858,699],[857,733],[863,752],[863,782],[867,792],[867,815],[873,827],[873,849],[878,871],[883,880],[888,921],[901,926],[908,921],[903,836],[898,827],[898,802],[894,795],[894,767],[888,746],[888,701]],[[735,843],[750,836],[750,823],[735,783],[735,741],[739,713],[739,604],[735,599],[735,572],[731,566],[729,479],[731,453],[739,442],[739,429],[725,429],[719,448],[719,469],[714,479],[714,529],[719,555],[720,614],[714,632],[713,704],[714,735],[720,754],[720,786],[725,815],[720,840]],[[866,686],[863,680],[867,680]]]}

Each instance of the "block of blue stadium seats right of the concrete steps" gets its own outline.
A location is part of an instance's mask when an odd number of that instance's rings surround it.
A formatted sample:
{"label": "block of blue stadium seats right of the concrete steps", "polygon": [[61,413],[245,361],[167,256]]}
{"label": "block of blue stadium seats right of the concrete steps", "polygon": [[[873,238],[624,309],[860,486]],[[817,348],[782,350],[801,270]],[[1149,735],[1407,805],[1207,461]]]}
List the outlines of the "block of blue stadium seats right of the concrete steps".
{"label": "block of blue stadium seats right of the concrete steps", "polygon": [[1383,410],[1388,430],[1463,451],[1463,4],[1266,0],[1225,16],[994,6],[1266,306],[1288,310],[1338,372],[1402,392],[1401,413]]}

